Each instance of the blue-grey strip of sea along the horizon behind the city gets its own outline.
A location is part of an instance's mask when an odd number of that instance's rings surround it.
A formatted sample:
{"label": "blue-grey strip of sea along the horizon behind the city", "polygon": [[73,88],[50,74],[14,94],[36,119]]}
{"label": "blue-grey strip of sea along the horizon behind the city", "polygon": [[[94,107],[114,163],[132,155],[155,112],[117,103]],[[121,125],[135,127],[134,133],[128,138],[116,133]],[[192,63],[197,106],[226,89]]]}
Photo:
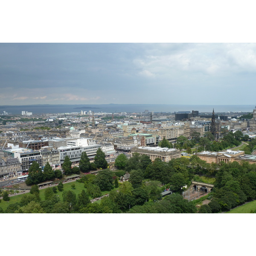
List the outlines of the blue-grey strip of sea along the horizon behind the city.
{"label": "blue-grey strip of sea along the horizon behind the city", "polygon": [[154,113],[160,112],[178,112],[178,111],[199,111],[201,113],[211,113],[214,108],[215,112],[252,112],[255,105],[153,105],[153,104],[103,104],[103,105],[22,105],[22,106],[0,106],[0,113],[6,111],[12,114],[21,114],[21,111],[28,111],[35,114],[40,113],[72,113],[82,111],[94,111],[117,113],[139,113],[148,110]]}

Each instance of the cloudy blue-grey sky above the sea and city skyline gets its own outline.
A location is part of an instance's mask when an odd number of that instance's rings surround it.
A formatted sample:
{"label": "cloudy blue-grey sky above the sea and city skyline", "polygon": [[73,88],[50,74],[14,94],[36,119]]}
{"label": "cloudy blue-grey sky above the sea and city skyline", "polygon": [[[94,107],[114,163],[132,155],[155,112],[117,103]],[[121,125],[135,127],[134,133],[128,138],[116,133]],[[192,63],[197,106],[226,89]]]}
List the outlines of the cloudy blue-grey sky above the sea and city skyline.
{"label": "cloudy blue-grey sky above the sea and city skyline", "polygon": [[256,103],[256,44],[0,44],[0,105]]}

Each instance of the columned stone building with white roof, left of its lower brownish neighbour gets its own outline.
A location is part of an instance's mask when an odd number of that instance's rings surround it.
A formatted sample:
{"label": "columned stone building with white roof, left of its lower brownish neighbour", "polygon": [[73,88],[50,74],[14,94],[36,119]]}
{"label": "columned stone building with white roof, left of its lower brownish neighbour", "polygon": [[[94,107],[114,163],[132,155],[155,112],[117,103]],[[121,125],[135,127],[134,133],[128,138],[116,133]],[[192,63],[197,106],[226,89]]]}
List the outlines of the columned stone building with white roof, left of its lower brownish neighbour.
{"label": "columned stone building with white roof, left of its lower brownish neighbour", "polygon": [[163,162],[169,162],[172,159],[180,158],[180,151],[175,148],[160,148],[160,147],[134,147],[131,150],[131,156],[134,153],[139,153],[141,155],[147,155],[150,157],[151,161],[156,158],[160,158]]}

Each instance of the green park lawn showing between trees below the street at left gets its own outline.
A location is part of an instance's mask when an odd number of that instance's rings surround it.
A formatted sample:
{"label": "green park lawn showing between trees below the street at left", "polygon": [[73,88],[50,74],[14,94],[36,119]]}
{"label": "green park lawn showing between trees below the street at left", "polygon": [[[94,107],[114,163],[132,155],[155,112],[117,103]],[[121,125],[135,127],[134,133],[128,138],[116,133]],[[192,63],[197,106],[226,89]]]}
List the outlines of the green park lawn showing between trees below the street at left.
{"label": "green park lawn showing between trees below the street at left", "polygon": [[[72,187],[71,187],[72,184],[76,185],[75,189],[72,189]],[[57,193],[55,194],[55,195],[58,195],[61,198],[61,201],[63,200],[62,193],[64,191],[68,191],[68,190],[72,189],[72,191],[75,192],[76,195],[80,194],[83,189],[86,191],[86,188],[84,188],[84,183],[80,183],[80,182],[74,181],[74,182],[70,182],[70,183],[63,183],[63,185],[64,185],[64,190],[62,192],[57,190]],[[49,187],[49,186],[46,186],[45,189],[47,187]],[[45,200],[45,197],[44,197],[45,189],[39,190],[41,200]],[[112,190],[117,190],[117,189],[118,188],[113,188]],[[106,195],[108,193],[109,193],[109,191],[102,191],[102,195]],[[9,202],[3,201],[3,199],[2,199],[1,202],[0,202],[0,207],[3,210],[5,210],[9,206],[9,204],[19,203],[22,197],[23,197],[23,194],[22,195],[12,196],[12,197],[10,197],[10,201]],[[93,199],[92,197],[89,197],[89,198]],[[100,200],[96,201],[96,202],[99,203]]]}

